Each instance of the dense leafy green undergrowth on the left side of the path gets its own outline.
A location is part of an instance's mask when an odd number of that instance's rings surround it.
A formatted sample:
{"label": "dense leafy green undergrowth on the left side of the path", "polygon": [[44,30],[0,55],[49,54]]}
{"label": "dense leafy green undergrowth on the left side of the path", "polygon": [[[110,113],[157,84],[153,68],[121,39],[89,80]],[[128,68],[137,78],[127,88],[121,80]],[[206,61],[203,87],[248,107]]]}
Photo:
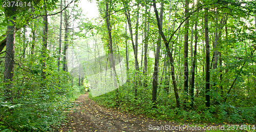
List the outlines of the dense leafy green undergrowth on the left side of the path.
{"label": "dense leafy green undergrowth on the left side of the path", "polygon": [[52,72],[46,80],[39,74],[30,76],[22,85],[14,82],[12,102],[3,93],[0,96],[0,131],[52,131],[65,122],[72,101],[82,91],[72,86],[66,72]]}

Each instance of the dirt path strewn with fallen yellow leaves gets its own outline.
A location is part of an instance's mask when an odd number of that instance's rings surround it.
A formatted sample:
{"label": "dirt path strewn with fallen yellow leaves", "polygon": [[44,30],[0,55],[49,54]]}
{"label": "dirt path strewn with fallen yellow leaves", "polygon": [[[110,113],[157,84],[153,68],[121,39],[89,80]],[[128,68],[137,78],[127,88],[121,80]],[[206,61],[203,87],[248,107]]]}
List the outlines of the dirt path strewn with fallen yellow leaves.
{"label": "dirt path strewn with fallen yellow leaves", "polygon": [[59,131],[149,131],[148,125],[177,125],[101,107],[89,99],[88,93],[81,95],[75,103],[75,110],[68,114],[68,122]]}

